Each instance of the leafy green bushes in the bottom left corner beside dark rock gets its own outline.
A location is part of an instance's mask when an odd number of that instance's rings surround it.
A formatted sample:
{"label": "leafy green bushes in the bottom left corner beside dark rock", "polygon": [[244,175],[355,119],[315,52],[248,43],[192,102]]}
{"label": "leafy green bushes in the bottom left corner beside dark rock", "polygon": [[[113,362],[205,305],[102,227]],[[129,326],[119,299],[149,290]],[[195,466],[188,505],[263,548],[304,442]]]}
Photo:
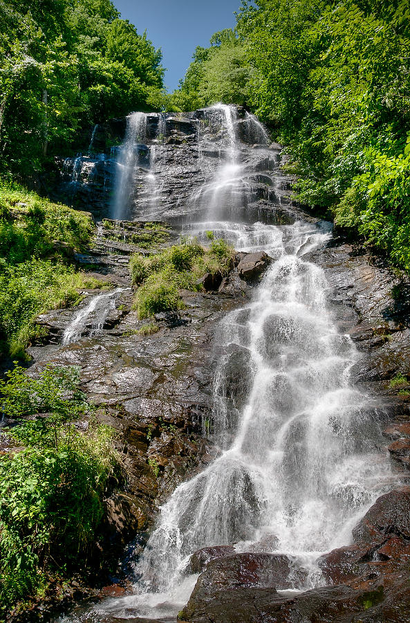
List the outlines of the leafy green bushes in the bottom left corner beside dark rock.
{"label": "leafy green bushes in the bottom left corner beside dark rock", "polygon": [[91,409],[79,384],[73,368],[31,379],[18,367],[1,383],[6,414],[23,419],[6,430],[19,449],[0,458],[0,615],[53,575],[84,570],[93,554],[118,459],[110,428],[70,424]]}

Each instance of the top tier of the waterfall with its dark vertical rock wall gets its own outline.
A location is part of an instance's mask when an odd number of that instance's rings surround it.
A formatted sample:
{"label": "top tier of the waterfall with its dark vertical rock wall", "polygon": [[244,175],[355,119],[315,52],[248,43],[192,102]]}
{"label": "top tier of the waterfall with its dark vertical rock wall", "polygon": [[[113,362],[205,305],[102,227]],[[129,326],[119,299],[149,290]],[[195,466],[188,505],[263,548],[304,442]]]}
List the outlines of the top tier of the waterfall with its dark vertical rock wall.
{"label": "top tier of the waterfall with its dark vertical rock wall", "polygon": [[[115,141],[118,145],[108,148]],[[288,203],[286,180],[277,179],[281,146],[268,149],[265,128],[238,106],[217,104],[181,114],[136,112],[94,127],[90,145],[86,154],[65,159],[60,190],[97,218],[197,220],[202,208],[192,195],[212,183],[222,161],[241,177],[252,213],[257,208],[263,218],[265,201]]]}

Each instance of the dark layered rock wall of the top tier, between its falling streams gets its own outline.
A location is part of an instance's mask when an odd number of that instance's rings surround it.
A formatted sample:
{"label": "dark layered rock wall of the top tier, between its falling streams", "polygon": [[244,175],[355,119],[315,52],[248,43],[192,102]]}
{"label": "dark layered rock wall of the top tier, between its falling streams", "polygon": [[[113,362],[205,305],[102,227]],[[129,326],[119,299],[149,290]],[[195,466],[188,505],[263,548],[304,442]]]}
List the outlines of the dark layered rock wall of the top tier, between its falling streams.
{"label": "dark layered rock wall of the top tier, between its falling streams", "polygon": [[[230,155],[227,130],[221,125],[221,110],[150,114],[146,124],[144,136],[137,137],[142,141],[136,147],[140,161],[133,170],[131,201],[122,218],[149,217],[177,224],[185,224],[189,219],[201,220],[201,213],[204,215],[207,207],[196,195],[214,178],[221,160]],[[126,129],[125,120],[101,127],[99,140],[91,152],[62,161],[60,196],[91,210],[97,218],[112,213],[120,146],[107,150],[106,145],[113,141],[121,143]],[[259,122],[238,108],[236,136],[245,168],[241,190],[246,196],[245,205],[241,205],[241,219],[250,222],[270,220],[274,207],[286,219],[290,203],[290,179],[277,166],[281,146],[270,145],[267,150],[261,132]],[[105,149],[95,153],[95,148]],[[197,201],[192,200],[195,198]],[[234,206],[227,206],[229,209],[233,210]],[[288,217],[288,222],[293,218]]]}

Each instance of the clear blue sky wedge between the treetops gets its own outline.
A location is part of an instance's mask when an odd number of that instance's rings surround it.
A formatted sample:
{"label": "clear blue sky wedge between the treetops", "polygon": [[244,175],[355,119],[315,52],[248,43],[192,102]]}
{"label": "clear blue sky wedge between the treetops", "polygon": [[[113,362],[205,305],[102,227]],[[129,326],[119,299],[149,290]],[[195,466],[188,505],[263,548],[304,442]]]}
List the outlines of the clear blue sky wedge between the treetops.
{"label": "clear blue sky wedge between the treetops", "polygon": [[240,0],[113,0],[123,19],[129,19],[156,48],[162,48],[162,66],[167,68],[165,85],[178,86],[191,62],[196,46],[207,47],[209,38],[235,25],[234,11]]}

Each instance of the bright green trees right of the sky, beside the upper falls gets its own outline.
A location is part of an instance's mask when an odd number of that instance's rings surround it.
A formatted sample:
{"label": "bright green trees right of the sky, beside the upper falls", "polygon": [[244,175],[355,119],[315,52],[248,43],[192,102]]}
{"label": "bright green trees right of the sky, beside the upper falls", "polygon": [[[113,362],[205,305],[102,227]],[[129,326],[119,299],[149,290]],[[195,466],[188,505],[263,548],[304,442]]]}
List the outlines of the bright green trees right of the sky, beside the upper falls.
{"label": "bright green trees right of the sky, beside the upper falls", "polygon": [[286,145],[297,198],[410,270],[407,0],[243,0],[170,108],[243,104]]}

